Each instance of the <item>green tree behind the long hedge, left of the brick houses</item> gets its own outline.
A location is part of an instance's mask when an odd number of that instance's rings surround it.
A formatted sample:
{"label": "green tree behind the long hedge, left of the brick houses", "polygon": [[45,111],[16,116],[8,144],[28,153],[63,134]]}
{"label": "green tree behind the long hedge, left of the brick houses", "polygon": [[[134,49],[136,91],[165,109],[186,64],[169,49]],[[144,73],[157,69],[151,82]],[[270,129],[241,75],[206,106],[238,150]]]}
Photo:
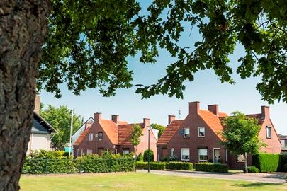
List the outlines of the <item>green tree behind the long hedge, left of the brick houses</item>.
{"label": "green tree behind the long hedge, left of the brick houses", "polygon": [[[43,104],[41,104],[43,107]],[[57,134],[52,138],[52,146],[56,150],[64,149],[64,146],[69,143],[69,134],[71,127],[71,110],[67,106],[61,105],[60,108],[55,108],[52,105],[47,105],[47,109],[40,110],[40,115],[47,122],[55,127]],[[73,130],[72,134],[77,131],[81,125],[81,116],[73,115]]]}

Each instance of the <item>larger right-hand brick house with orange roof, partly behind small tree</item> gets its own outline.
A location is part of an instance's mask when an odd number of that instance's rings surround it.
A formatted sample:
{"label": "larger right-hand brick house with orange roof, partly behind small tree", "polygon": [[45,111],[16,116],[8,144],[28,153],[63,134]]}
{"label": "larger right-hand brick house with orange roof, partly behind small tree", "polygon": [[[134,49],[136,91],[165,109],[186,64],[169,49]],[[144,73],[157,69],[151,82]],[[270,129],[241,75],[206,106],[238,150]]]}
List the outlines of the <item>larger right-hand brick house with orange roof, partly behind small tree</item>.
{"label": "larger right-hand brick house with orange roof, partly behind small tree", "polygon": [[[221,161],[230,168],[243,168],[242,156],[232,156],[220,144],[223,129],[222,119],[227,114],[220,112],[218,105],[208,105],[208,110],[201,110],[199,102],[189,103],[189,112],[184,120],[175,120],[174,115],[169,115],[169,125],[157,141],[157,156],[161,160],[164,156],[176,156],[181,161],[197,163]],[[274,125],[269,117],[269,107],[262,106],[261,113],[247,115],[259,120],[261,131],[259,136],[267,144],[262,152],[280,153],[281,143],[278,139]],[[251,165],[251,157],[247,157]]]}

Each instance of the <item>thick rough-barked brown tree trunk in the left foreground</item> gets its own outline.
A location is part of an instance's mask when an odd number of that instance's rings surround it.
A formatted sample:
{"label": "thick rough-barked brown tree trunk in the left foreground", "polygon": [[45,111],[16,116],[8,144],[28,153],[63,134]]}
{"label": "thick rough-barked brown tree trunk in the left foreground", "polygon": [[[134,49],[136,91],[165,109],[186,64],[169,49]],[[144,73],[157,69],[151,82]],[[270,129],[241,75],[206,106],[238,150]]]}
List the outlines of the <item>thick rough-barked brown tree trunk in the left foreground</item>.
{"label": "thick rough-barked brown tree trunk in the left foreground", "polygon": [[19,190],[30,137],[35,77],[47,32],[48,0],[0,3],[0,190]]}

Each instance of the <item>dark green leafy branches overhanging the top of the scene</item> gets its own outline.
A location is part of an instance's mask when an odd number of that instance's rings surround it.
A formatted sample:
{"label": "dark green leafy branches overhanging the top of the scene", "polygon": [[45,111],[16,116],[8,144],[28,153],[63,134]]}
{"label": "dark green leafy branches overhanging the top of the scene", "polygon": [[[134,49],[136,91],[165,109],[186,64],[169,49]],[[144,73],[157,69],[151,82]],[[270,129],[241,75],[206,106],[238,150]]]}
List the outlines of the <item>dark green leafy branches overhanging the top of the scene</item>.
{"label": "dark green leafy branches overhanging the top of the scene", "polygon": [[[140,62],[154,63],[161,48],[176,62],[157,83],[139,85],[136,92],[142,98],[159,93],[183,98],[184,81],[193,81],[198,70],[213,69],[220,81],[234,83],[228,57],[235,45],[242,45],[237,74],[242,79],[260,76],[257,90],[263,100],[287,102],[284,0],[160,0],[152,1],[147,11],[135,0],[51,3],[38,88],[57,97],[61,83],[75,94],[99,88],[103,96],[113,96],[117,88],[130,88],[133,71],[127,57],[140,53]],[[181,47],[186,23],[202,39]]]}

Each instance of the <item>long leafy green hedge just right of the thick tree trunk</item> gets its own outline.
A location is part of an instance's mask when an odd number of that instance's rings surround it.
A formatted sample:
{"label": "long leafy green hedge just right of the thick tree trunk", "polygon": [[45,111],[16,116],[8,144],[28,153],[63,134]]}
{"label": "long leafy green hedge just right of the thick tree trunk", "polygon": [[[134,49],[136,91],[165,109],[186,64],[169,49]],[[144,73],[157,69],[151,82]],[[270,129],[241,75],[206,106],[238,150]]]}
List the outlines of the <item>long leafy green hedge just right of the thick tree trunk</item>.
{"label": "long leafy green hedge just right of the thick tree trunk", "polygon": [[135,170],[135,160],[131,156],[112,154],[88,155],[77,159],[67,158],[52,151],[40,151],[26,158],[22,173],[107,173]]}

